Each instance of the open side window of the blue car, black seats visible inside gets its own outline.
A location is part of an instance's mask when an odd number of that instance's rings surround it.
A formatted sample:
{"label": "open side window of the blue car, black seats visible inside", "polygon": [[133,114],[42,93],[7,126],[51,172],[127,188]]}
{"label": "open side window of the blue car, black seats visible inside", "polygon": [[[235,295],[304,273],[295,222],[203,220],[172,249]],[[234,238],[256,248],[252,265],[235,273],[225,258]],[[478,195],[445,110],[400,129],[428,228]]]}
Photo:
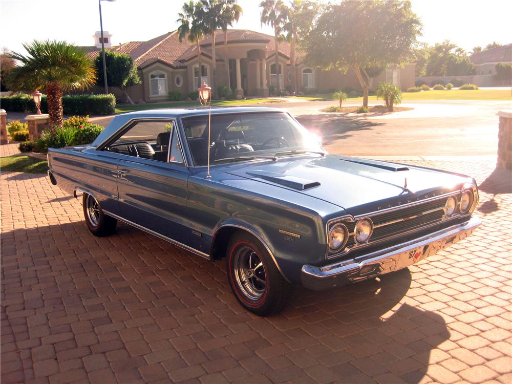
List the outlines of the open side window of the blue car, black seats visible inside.
{"label": "open side window of the blue car, black seats visible inside", "polygon": [[104,151],[167,162],[172,127],[172,121],[139,121]]}

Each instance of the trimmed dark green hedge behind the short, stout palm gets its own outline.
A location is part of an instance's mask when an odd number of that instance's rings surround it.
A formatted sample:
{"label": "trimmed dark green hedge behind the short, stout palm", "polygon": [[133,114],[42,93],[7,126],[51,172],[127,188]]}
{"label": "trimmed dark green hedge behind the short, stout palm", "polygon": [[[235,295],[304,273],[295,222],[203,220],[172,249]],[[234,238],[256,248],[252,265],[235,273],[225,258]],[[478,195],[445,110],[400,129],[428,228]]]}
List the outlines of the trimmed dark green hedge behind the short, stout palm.
{"label": "trimmed dark green hedge behind the short, stout palm", "polygon": [[[7,112],[36,112],[32,96],[17,94],[0,97],[0,104]],[[116,98],[108,95],[65,95],[62,108],[65,115],[111,115],[115,112]],[[41,112],[48,113],[46,95],[41,98]]]}

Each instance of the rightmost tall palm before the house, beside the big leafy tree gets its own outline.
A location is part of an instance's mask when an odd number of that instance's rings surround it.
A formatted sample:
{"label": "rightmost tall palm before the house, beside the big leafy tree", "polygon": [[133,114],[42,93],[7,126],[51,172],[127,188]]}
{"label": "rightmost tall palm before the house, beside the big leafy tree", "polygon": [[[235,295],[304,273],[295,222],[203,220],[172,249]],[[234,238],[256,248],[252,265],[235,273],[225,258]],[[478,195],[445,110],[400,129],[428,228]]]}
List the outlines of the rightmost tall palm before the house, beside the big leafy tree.
{"label": "rightmost tall palm before the house, beside the big leafy tree", "polygon": [[297,92],[295,49],[309,31],[318,12],[318,4],[309,0],[292,0],[288,7],[288,21],[283,25],[286,40],[290,43],[291,91]]}

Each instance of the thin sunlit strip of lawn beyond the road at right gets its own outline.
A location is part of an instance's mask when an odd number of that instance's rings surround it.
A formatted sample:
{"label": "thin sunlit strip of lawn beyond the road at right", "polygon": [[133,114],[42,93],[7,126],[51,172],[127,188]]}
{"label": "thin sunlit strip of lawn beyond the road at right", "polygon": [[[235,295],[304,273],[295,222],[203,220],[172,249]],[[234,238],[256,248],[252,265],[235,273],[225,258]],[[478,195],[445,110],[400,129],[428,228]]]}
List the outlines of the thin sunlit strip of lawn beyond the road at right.
{"label": "thin sunlit strip of lawn beyond the road at right", "polygon": [[[309,101],[332,100],[331,94],[309,96],[294,96],[297,99]],[[377,96],[369,97],[376,100]],[[362,100],[362,96],[348,97],[347,100]],[[402,100],[512,100],[510,90],[450,90],[450,91],[422,91],[402,92]]]}

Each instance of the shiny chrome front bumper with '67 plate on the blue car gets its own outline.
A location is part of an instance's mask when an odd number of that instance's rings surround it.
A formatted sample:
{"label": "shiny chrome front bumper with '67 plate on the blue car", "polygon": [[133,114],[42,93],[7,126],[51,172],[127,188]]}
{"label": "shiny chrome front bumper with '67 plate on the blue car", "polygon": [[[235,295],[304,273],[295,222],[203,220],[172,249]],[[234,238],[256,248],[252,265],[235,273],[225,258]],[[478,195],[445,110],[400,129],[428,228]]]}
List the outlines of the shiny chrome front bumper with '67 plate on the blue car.
{"label": "shiny chrome front bumper with '67 plate on the blue car", "polygon": [[301,271],[301,282],[304,287],[319,291],[394,272],[465,239],[480,224],[480,219],[473,217],[464,223],[361,255],[355,259],[323,267],[304,265]]}

